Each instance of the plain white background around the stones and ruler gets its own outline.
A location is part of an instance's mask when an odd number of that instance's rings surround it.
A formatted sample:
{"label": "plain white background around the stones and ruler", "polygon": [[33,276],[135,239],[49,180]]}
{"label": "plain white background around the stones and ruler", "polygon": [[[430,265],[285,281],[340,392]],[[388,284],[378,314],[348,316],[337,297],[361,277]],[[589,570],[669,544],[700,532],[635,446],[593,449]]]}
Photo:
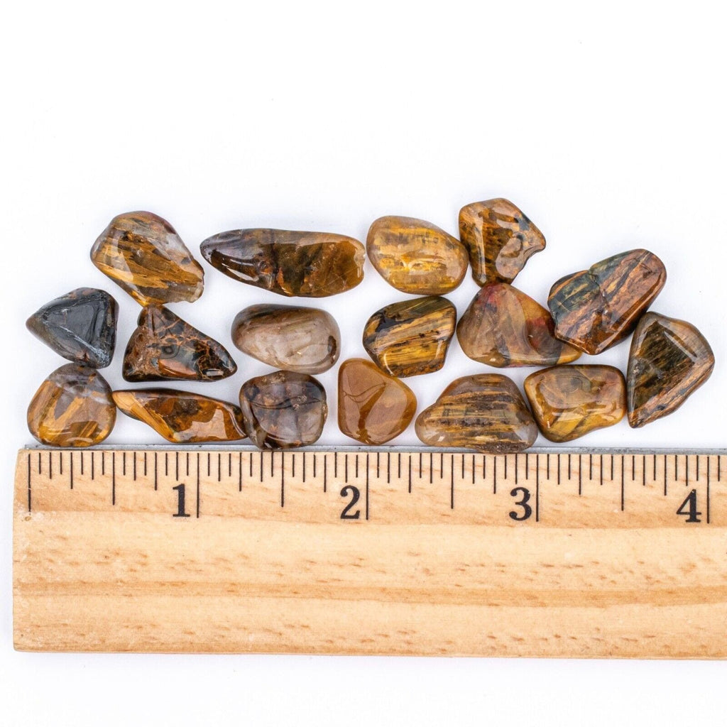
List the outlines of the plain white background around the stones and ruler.
{"label": "plain white background around the stones and ruler", "polygon": [[[49,655],[12,651],[11,483],[31,441],[25,409],[63,363],[25,332],[77,286],[121,306],[122,384],[137,304],[89,262],[114,214],[150,209],[190,249],[270,226],[365,239],[382,214],[456,233],[459,207],[505,196],[547,238],[517,285],[550,284],[645,246],[664,260],[653,309],[692,321],[715,350],[710,382],[668,419],[586,446],[725,443],[723,333],[726,51],[716,3],[393,1],[361,4],[15,3],[0,31],[4,393],[0,493],[0,723],[681,724],[721,720],[721,662],[574,662],[286,656]],[[206,270],[174,310],[230,343],[235,313],[285,302]],[[367,263],[364,284],[321,305],[343,356],[364,321],[406,297]],[[469,277],[451,295],[459,313]],[[599,357],[625,366],[627,344]],[[266,371],[197,387],[234,400]],[[584,359],[586,361],[587,359]],[[456,342],[420,405],[487,370]],[[515,371],[521,382],[527,371]],[[321,376],[335,411],[335,375]],[[189,387],[194,388],[194,387]],[[110,443],[158,441],[119,415]],[[401,443],[414,443],[410,430]],[[345,443],[335,417],[321,443]],[[540,443],[543,443],[542,441]]]}

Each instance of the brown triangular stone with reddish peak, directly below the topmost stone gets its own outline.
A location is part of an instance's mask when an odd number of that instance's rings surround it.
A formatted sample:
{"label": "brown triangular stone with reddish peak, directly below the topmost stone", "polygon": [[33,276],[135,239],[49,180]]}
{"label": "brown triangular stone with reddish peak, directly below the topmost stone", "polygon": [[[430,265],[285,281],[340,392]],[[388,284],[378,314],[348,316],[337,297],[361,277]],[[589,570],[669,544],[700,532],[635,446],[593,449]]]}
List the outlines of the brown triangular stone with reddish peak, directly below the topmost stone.
{"label": "brown triangular stone with reddish peak, directly below the topmost stone", "polygon": [[555,337],[550,313],[507,283],[486,283],[457,324],[457,340],[475,361],[498,368],[553,366],[581,352]]}

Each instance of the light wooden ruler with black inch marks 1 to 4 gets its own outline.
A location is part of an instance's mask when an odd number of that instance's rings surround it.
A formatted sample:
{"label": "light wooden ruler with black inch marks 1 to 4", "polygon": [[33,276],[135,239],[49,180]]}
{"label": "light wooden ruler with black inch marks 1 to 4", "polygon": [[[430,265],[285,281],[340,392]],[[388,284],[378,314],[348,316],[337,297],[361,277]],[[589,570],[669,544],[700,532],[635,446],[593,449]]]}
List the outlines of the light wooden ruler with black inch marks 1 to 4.
{"label": "light wooden ruler with black inch marks 1 to 4", "polygon": [[727,451],[23,449],[31,651],[727,656]]}

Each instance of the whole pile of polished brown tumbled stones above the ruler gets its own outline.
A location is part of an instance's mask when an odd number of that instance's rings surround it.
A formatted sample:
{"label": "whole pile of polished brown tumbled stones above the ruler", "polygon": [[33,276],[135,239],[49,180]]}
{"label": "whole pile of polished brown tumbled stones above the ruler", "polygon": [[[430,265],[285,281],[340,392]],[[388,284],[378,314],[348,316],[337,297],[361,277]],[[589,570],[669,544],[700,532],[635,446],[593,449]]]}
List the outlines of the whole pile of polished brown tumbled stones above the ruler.
{"label": "whole pile of polished brown tumbled stones above the ruler", "polygon": [[[393,287],[419,297],[377,310],[364,327],[371,361],[344,361],[338,377],[338,423],[345,435],[378,445],[411,423],[417,401],[403,377],[444,365],[457,331],[462,350],[488,366],[547,366],[518,387],[502,374],[457,379],[419,414],[416,431],[435,446],[516,452],[538,429],[565,442],[628,415],[641,427],[678,408],[710,376],[712,350],[685,321],[646,313],[666,281],[661,260],[643,249],[616,254],[561,278],[542,308],[513,287],[532,254],[545,248],[538,228],[511,202],[475,202],[459,212],[460,239],[430,222],[381,217],[364,246],[332,233],[231,230],[201,244],[225,275],[285,296],[324,297],[364,277],[366,253]],[[165,308],[197,300],[204,272],[172,225],[150,212],[111,220],[91,259],[142,305],[126,346],[129,382],[214,381],[236,372],[227,350]],[[457,322],[442,297],[471,265],[481,286]],[[44,305],[28,328],[72,363],[43,382],[28,409],[41,443],[78,447],[102,442],[116,409],[166,440],[226,442],[249,438],[261,449],[317,441],[328,414],[326,391],[312,374],[337,361],[340,331],[324,310],[251,305],[232,325],[237,348],[276,371],[246,381],[240,406],[172,388],[111,391],[98,372],[111,364],[118,305],[103,290],[81,288]],[[634,333],[624,379],[619,369],[573,364]]]}

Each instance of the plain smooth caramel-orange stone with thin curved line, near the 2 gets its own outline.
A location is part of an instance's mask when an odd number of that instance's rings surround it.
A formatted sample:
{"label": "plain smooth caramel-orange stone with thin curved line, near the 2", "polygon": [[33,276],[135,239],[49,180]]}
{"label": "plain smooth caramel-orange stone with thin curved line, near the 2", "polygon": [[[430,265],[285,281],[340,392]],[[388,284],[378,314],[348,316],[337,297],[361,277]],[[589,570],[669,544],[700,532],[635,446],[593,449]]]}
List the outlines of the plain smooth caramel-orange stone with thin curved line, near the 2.
{"label": "plain smooth caramel-orange stone with thin curved line, near the 2", "polygon": [[371,361],[350,358],[338,369],[338,426],[364,444],[383,444],[400,435],[417,411],[411,389]]}

